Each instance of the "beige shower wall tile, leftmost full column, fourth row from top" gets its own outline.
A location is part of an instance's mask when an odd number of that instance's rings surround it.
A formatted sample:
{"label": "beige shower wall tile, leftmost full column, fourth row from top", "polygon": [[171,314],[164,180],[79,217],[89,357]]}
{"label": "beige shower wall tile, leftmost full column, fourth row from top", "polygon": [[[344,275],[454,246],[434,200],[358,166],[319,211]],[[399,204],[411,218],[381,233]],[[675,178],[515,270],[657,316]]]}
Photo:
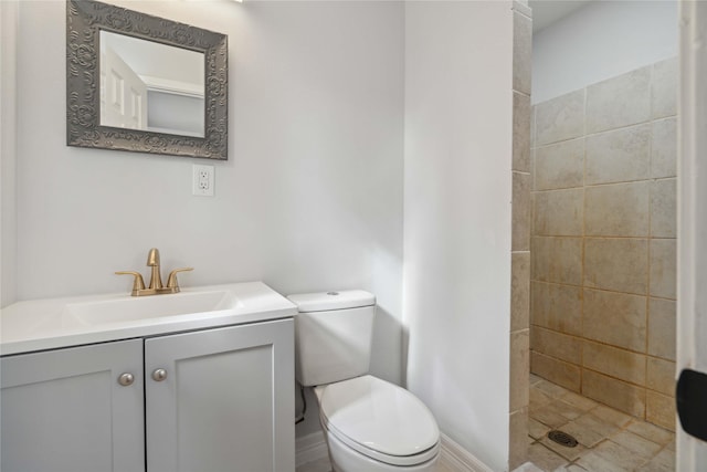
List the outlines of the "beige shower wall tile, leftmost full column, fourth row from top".
{"label": "beige shower wall tile, leftmost full column, fourth row from top", "polygon": [[581,238],[532,238],[532,279],[572,285],[582,283]]}

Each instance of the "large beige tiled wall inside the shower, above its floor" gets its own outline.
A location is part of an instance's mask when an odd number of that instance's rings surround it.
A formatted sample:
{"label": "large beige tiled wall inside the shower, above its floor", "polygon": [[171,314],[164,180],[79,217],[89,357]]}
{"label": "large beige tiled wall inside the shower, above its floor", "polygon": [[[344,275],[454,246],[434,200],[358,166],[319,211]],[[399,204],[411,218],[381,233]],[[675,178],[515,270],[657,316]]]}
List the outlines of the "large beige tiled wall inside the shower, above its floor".
{"label": "large beige tiled wall inside the shower, above its floor", "polygon": [[531,371],[675,429],[677,60],[534,107]]}

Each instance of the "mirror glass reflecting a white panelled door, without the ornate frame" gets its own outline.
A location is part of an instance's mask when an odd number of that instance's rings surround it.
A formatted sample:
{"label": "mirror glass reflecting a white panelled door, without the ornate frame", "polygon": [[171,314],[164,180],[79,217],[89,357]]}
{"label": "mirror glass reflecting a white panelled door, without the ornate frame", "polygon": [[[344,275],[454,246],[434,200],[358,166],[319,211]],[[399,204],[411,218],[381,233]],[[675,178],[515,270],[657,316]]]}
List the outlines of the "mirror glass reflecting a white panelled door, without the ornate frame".
{"label": "mirror glass reflecting a white panelled door, without the ornate frame", "polygon": [[101,30],[101,125],[204,137],[204,54]]}

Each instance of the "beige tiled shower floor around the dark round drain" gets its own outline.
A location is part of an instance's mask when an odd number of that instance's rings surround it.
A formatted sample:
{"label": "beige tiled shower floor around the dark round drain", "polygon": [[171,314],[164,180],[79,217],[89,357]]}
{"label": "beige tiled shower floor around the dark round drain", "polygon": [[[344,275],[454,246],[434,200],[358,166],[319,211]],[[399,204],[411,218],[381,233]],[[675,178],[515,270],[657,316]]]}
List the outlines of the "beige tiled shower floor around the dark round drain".
{"label": "beige tiled shower floor around the dark round drain", "polygon": [[[534,401],[535,400],[535,401]],[[675,434],[530,376],[528,461],[546,472],[674,472]],[[558,429],[579,444],[547,438]]]}

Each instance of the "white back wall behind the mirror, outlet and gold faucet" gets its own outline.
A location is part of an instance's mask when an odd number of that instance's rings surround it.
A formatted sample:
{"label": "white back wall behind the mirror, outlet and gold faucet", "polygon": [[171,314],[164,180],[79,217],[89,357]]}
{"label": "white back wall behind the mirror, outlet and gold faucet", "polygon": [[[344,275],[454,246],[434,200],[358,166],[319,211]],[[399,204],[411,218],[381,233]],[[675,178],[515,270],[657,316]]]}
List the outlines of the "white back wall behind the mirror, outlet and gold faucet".
{"label": "white back wall behind the mirror, outlet and gold faucet", "polygon": [[[151,247],[194,268],[184,286],[360,287],[372,370],[400,381],[402,4],[114,3],[229,35],[229,160],[66,147],[65,2],[21,2],[18,298],[127,293],[113,272],[147,274]],[[192,197],[193,164],[215,166],[214,198]]]}

